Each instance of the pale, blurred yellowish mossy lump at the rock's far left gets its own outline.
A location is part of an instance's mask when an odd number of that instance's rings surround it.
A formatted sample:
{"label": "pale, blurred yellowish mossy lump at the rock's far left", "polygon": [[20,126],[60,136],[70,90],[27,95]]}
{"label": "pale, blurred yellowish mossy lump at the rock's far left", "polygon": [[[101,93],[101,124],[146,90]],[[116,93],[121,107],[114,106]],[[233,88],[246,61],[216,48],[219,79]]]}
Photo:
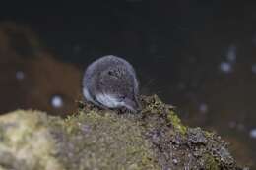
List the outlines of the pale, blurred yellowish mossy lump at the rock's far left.
{"label": "pale, blurred yellowish mossy lump at the rock's far left", "polygon": [[22,110],[0,117],[0,167],[63,169],[53,156],[55,142],[45,118],[44,113]]}

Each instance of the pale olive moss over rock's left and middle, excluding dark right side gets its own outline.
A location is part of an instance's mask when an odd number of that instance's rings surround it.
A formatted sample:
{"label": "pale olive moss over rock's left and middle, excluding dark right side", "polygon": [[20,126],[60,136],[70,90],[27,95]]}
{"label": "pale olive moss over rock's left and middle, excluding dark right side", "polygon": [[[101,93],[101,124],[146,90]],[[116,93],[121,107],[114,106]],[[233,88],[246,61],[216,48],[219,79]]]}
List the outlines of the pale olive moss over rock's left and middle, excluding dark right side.
{"label": "pale olive moss over rock's left and middle, excluding dark right side", "polygon": [[111,112],[60,119],[17,111],[0,127],[0,169],[160,169],[136,122]]}

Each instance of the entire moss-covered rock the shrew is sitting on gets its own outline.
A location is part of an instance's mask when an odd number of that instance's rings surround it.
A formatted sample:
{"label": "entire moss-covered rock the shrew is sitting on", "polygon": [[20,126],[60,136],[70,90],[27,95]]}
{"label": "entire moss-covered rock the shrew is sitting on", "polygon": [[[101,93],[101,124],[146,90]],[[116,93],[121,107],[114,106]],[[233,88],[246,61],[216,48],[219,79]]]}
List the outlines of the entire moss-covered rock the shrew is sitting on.
{"label": "entire moss-covered rock the shrew is sitting on", "polygon": [[0,170],[241,169],[220,136],[182,125],[156,95],[141,103],[138,114],[80,102],[65,119],[0,116]]}

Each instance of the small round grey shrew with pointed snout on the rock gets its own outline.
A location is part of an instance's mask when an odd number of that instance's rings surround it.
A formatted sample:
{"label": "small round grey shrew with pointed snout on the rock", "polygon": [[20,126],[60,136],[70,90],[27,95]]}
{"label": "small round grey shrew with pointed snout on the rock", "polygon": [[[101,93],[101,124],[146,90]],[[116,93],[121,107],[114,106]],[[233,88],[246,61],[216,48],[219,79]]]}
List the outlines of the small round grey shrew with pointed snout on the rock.
{"label": "small round grey shrew with pointed snout on the rock", "polygon": [[86,69],[83,78],[86,100],[103,108],[140,109],[136,73],[126,60],[108,55],[97,59]]}

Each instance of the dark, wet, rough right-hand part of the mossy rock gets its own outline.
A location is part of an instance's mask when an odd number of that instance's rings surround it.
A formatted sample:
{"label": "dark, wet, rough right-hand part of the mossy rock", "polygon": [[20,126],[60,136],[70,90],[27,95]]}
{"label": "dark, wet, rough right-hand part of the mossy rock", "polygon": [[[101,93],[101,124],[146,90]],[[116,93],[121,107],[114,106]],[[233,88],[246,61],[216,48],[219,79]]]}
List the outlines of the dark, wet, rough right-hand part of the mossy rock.
{"label": "dark, wet, rough right-hand part of the mossy rock", "polygon": [[145,101],[146,108],[152,108],[153,112],[142,114],[148,119],[158,117],[153,122],[145,122],[148,138],[155,146],[163,169],[239,169],[220,136],[183,126],[175,110],[161,103],[157,96],[146,97]]}

